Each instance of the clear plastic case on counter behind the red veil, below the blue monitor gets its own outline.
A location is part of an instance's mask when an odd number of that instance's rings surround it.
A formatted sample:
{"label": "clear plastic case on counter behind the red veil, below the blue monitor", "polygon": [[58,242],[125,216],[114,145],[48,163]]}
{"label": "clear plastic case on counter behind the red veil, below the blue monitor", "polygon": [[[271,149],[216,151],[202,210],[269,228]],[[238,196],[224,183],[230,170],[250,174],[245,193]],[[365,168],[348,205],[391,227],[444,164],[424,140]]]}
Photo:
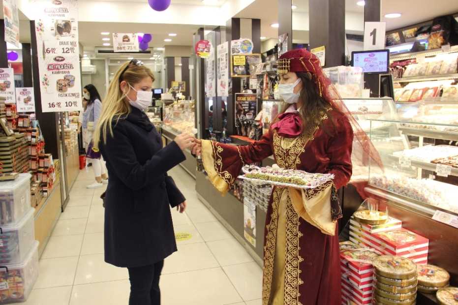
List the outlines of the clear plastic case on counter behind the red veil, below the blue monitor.
{"label": "clear plastic case on counter behind the red veil, below the blue monitor", "polygon": [[362,98],[364,73],[361,67],[337,66],[323,69],[342,98]]}

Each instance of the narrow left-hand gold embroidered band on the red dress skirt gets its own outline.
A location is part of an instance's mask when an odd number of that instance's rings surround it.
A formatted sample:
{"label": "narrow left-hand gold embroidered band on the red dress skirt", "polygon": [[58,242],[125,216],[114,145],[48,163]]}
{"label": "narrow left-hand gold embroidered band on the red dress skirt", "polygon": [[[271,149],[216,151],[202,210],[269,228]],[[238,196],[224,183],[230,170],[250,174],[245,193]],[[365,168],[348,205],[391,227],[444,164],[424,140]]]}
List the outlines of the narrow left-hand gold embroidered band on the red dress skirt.
{"label": "narrow left-hand gold embroidered band on the red dress skirt", "polygon": [[275,188],[272,200],[271,221],[267,225],[267,238],[264,247],[264,276],[262,285],[262,304],[268,305],[272,288],[272,277],[274,273],[275,243],[278,223],[278,204],[283,192],[281,188]]}

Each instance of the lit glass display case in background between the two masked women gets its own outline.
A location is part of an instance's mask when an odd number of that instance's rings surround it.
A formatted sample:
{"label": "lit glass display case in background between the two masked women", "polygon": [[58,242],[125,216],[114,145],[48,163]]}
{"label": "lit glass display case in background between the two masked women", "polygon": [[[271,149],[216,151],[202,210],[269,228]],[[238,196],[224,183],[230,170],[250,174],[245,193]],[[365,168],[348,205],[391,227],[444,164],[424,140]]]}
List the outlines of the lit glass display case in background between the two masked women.
{"label": "lit glass display case in background between the two masked women", "polygon": [[182,100],[174,102],[164,108],[164,121],[162,128],[175,134],[182,132],[195,133],[194,119],[195,102]]}

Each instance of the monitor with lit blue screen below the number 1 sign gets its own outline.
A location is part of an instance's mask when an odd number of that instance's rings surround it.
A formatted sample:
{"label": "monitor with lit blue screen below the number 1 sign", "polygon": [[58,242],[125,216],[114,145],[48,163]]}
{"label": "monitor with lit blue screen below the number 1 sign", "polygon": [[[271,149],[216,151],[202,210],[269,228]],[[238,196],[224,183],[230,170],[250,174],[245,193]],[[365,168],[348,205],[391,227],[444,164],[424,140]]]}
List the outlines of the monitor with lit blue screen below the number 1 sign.
{"label": "monitor with lit blue screen below the number 1 sign", "polygon": [[351,62],[352,66],[363,68],[364,73],[389,73],[390,50],[354,51]]}

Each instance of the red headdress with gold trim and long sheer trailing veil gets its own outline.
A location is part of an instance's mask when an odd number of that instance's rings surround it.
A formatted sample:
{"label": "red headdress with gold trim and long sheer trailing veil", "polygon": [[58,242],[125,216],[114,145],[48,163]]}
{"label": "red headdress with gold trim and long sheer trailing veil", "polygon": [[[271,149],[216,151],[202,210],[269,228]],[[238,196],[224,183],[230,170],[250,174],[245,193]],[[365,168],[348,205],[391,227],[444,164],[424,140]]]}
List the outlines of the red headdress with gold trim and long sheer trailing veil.
{"label": "red headdress with gold trim and long sheer trailing veil", "polygon": [[[383,171],[382,161],[380,155],[371,143],[366,132],[361,128],[360,124],[355,120],[353,115],[350,113],[344,102],[340,98],[334,85],[331,83],[329,78],[326,77],[321,67],[320,60],[306,49],[296,49],[288,51],[280,56],[277,61],[278,63],[278,74],[284,74],[288,72],[306,72],[310,74],[310,79],[315,82],[320,96],[325,99],[334,109],[340,111],[350,121],[353,132],[353,152],[352,152],[352,163],[355,169],[366,169],[366,181],[368,179],[368,166],[370,163],[371,173],[375,167],[378,170]],[[356,177],[355,177],[356,178]],[[353,183],[353,181],[352,181]],[[355,183],[359,193],[366,197],[364,187],[366,183]]]}

